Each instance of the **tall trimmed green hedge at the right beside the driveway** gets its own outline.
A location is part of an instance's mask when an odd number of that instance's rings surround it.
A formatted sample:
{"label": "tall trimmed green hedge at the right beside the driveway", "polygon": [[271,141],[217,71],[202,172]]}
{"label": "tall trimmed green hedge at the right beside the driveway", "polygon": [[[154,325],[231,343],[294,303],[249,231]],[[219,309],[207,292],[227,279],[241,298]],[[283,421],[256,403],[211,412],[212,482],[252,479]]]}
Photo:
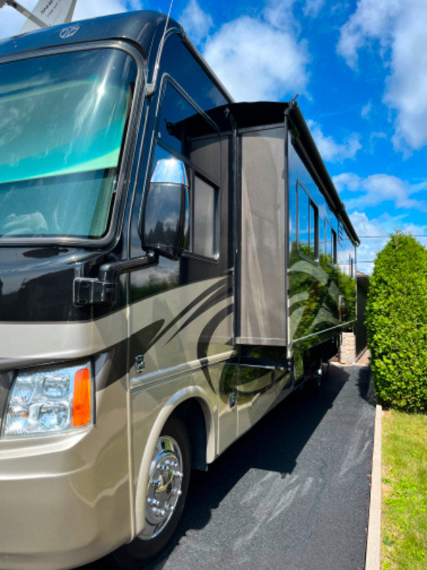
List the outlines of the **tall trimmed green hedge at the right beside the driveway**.
{"label": "tall trimmed green hedge at the right beside the driveway", "polygon": [[379,403],[427,411],[427,250],[396,232],[377,255],[367,302],[368,347]]}

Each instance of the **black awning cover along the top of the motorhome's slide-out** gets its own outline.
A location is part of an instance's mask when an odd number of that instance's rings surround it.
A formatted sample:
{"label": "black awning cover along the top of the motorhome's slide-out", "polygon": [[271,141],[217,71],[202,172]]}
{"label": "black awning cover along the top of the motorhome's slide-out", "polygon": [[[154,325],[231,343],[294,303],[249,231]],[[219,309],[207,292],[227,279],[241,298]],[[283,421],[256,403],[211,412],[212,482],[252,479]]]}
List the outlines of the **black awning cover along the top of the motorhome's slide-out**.
{"label": "black awning cover along the top of the motorhome's slide-out", "polygon": [[283,123],[285,115],[288,115],[290,120],[289,128],[301,160],[305,163],[315,180],[317,180],[320,190],[325,195],[332,211],[341,220],[352,243],[358,246],[360,239],[352,222],[350,222],[345,206],[339,198],[334,182],[332,182],[330,174],[327,172],[325,163],[320,156],[320,152],[297,103],[295,101],[290,101],[289,103],[258,101],[256,103],[232,103],[228,105],[228,108],[236,121],[237,128],[241,129],[280,124]]}

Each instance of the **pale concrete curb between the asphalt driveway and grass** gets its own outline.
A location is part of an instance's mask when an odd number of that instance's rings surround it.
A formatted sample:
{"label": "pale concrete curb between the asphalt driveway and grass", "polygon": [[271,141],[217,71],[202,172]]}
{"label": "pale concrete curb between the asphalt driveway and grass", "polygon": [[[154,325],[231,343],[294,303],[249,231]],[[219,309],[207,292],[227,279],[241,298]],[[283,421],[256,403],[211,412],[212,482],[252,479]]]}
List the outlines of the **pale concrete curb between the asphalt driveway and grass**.
{"label": "pale concrete curb between the asphalt driveway and grass", "polygon": [[381,565],[381,423],[382,408],[376,405],[365,570],[380,570]]}

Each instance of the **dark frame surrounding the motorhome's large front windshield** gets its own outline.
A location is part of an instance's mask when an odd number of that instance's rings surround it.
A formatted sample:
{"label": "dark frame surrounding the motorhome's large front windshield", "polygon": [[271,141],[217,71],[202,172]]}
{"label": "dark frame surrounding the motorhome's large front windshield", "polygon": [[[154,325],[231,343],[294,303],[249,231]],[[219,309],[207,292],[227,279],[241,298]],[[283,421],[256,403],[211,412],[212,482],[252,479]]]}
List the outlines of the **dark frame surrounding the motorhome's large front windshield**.
{"label": "dark frame surrounding the motorhome's large front windshield", "polygon": [[121,160],[117,171],[117,181],[115,184],[115,192],[112,203],[112,211],[108,221],[107,232],[100,238],[81,238],[70,236],[46,236],[46,237],[0,237],[0,247],[3,246],[22,246],[22,245],[65,245],[65,246],[83,246],[83,247],[100,247],[110,244],[115,237],[119,237],[116,229],[122,225],[122,219],[125,212],[125,200],[123,199],[124,190],[130,183],[128,173],[132,171],[132,162],[134,160],[135,148],[139,133],[139,126],[143,126],[142,110],[144,108],[144,86],[147,83],[148,65],[147,60],[142,53],[131,43],[122,40],[101,40],[93,42],[85,42],[78,44],[67,44],[66,46],[54,46],[48,48],[34,49],[31,51],[23,51],[16,54],[0,57],[0,65],[3,63],[11,63],[14,61],[22,61],[46,56],[56,56],[61,53],[73,53],[78,51],[88,51],[95,49],[117,49],[124,51],[131,56],[137,64],[137,78],[135,81],[135,91],[130,101],[130,114],[127,127],[123,133],[122,147],[120,150]]}

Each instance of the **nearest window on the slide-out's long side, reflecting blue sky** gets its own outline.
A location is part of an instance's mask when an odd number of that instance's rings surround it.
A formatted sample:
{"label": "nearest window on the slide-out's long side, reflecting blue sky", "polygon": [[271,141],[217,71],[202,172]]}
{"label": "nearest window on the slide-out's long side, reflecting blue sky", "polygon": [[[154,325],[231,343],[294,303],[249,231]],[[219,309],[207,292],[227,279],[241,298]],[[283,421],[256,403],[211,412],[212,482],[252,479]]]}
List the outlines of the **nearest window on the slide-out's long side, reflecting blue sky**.
{"label": "nearest window on the slide-out's long side, reflecting blue sky", "polygon": [[297,186],[298,252],[304,257],[319,259],[319,211],[315,202],[299,183]]}

